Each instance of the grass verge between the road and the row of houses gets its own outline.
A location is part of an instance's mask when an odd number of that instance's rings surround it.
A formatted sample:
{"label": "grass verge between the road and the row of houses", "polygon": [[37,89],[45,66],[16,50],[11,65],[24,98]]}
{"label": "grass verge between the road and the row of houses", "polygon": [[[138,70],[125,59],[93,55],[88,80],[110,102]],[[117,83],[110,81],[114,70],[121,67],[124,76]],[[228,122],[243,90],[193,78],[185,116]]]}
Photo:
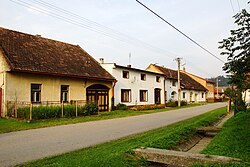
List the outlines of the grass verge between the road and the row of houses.
{"label": "grass verge between the road and the row of houses", "polygon": [[[181,108],[194,107],[198,105],[202,105],[202,104],[189,104]],[[80,123],[80,122],[120,118],[120,117],[127,117],[127,116],[135,116],[135,115],[142,115],[142,114],[150,114],[150,113],[163,112],[163,111],[175,110],[175,109],[178,109],[178,107],[164,108],[164,109],[157,109],[157,110],[145,110],[145,111],[126,110],[126,111],[100,112],[99,115],[95,115],[95,116],[39,120],[39,121],[32,121],[30,123],[27,121],[16,121],[16,120],[0,118],[0,133],[42,128],[42,127],[49,127],[49,126],[57,126],[57,125],[65,125],[65,124],[74,124],[74,123]]]}

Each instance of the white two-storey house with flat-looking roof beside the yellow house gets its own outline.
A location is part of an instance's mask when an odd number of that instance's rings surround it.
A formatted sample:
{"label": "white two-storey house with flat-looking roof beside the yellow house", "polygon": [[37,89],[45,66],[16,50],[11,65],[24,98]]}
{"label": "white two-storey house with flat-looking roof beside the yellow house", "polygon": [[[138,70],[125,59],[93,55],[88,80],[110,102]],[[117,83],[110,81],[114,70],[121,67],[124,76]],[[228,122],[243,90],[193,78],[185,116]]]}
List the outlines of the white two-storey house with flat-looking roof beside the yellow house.
{"label": "white two-storey house with flat-looking roof beside the yellow house", "polygon": [[117,83],[114,87],[114,104],[127,106],[165,104],[164,75],[146,70],[101,62]]}

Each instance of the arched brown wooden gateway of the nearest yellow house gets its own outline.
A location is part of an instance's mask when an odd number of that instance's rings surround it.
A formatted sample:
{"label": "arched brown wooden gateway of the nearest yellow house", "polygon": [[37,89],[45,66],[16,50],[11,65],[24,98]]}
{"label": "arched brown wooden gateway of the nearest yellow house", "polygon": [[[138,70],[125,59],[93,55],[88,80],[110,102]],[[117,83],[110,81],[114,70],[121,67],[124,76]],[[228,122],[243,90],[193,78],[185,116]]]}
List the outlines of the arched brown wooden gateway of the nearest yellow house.
{"label": "arched brown wooden gateway of the nearest yellow house", "polygon": [[99,111],[109,110],[109,88],[101,85],[91,85],[87,88],[87,102],[98,104]]}

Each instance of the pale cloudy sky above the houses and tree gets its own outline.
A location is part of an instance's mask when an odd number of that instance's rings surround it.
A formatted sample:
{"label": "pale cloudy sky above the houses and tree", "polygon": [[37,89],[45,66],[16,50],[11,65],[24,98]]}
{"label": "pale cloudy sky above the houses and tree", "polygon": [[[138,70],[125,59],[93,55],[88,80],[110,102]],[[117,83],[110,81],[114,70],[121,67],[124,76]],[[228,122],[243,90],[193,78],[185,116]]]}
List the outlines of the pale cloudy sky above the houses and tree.
{"label": "pale cloudy sky above the houses and tree", "polygon": [[[247,0],[140,0],[216,57],[237,29],[233,15]],[[1,0],[0,27],[81,46],[97,61],[181,68],[200,77],[226,75],[219,61],[136,0]]]}

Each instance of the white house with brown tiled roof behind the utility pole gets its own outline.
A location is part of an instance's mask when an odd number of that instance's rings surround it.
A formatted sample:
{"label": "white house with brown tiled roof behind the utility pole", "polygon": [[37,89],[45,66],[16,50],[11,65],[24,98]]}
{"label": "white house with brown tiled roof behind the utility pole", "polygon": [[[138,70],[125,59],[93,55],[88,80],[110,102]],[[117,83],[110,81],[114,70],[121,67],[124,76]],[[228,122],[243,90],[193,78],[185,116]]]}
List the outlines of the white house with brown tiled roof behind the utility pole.
{"label": "white house with brown tiled roof behind the utility pole", "polygon": [[[165,76],[165,100],[178,100],[178,72],[155,64],[150,64],[147,71],[161,73]],[[200,83],[180,73],[181,100],[187,102],[205,102],[207,89]]]}

